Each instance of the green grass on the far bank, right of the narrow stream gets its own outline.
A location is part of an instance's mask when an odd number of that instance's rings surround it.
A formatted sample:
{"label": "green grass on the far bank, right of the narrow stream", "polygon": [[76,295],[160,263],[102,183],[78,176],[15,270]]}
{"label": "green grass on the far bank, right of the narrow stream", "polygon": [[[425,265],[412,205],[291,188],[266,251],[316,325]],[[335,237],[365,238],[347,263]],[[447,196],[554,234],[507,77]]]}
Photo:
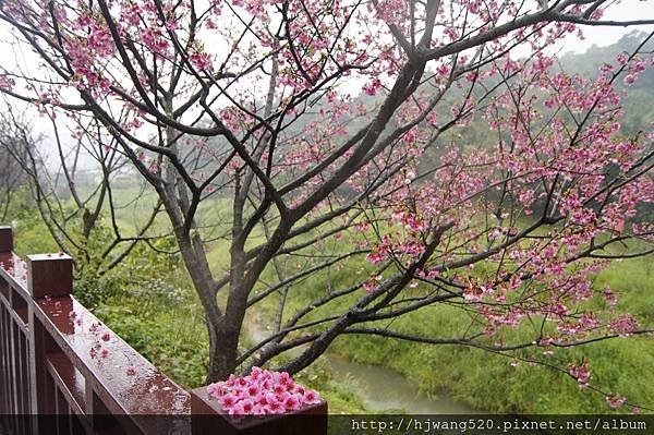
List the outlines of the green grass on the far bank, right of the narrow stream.
{"label": "green grass on the far bank, right of the narrow stream", "polygon": [[[595,287],[609,286],[619,297],[619,312],[635,315],[643,325],[654,324],[654,279],[652,256],[614,262],[595,280]],[[268,270],[268,274],[270,271]],[[356,268],[331,270],[335,288],[354,279]],[[270,279],[270,275],[267,275]],[[316,274],[291,288],[287,317],[326,291],[326,273]],[[360,297],[361,294],[356,294]],[[326,305],[307,315],[306,321],[319,318],[326,312],[337,313],[355,297]],[[271,318],[277,301],[271,297],[259,307]],[[591,301],[588,309],[604,307]],[[425,337],[460,337],[470,318],[449,306],[431,306],[388,323],[398,331]],[[377,325],[383,327],[384,325]],[[506,342],[531,341],[530,328],[506,328]],[[541,348],[517,352],[514,355],[536,359],[566,370],[569,363],[583,358],[591,361],[592,384],[606,392],[625,395],[633,403],[654,407],[654,341],[652,337],[617,338],[598,343],[557,349],[546,357]],[[433,396],[443,392],[471,407],[491,412],[516,413],[607,413],[605,397],[578,384],[556,370],[529,366],[522,362],[514,367],[511,358],[461,346],[431,346],[379,337],[344,336],[330,348],[348,359],[396,370],[420,389]],[[639,379],[637,383],[633,379]],[[623,412],[616,411],[616,412]]]}

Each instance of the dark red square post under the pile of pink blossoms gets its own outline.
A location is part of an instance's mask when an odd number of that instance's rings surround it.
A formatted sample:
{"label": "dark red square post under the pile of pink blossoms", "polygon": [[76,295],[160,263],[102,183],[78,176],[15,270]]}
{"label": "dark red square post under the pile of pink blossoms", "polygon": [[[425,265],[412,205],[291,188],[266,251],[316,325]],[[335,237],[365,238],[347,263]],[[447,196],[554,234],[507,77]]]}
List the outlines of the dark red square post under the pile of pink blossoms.
{"label": "dark red square post under the pile of pink blossoms", "polygon": [[244,415],[234,419],[210,398],[206,387],[191,391],[191,425],[194,434],[286,435],[327,434],[327,402],[305,406],[298,411],[272,415]]}

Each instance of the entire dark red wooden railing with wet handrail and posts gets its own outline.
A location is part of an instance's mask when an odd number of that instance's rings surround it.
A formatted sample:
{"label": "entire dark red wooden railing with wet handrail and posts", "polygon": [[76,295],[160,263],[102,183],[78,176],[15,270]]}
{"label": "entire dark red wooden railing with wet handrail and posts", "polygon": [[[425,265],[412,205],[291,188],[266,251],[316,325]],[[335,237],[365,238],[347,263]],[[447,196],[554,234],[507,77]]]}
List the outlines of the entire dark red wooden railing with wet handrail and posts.
{"label": "entire dark red wooden railing with wet handrail and posts", "polygon": [[[181,388],[75,300],[70,256],[12,250],[0,227],[0,414],[11,434],[196,434],[229,421],[206,388]],[[304,411],[311,420],[231,433],[326,433],[326,403]]]}

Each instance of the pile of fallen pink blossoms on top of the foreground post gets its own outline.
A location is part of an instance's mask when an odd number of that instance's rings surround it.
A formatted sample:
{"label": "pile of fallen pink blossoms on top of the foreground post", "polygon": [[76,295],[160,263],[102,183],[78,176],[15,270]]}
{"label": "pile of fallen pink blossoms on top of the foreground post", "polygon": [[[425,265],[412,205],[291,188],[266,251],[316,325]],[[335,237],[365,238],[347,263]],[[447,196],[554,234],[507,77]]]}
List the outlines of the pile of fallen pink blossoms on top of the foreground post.
{"label": "pile of fallen pink blossoms on top of the foreground post", "polygon": [[253,367],[250,375],[230,375],[210,384],[207,392],[232,416],[281,414],[320,401],[316,391],[295,384],[288,373],[259,367]]}

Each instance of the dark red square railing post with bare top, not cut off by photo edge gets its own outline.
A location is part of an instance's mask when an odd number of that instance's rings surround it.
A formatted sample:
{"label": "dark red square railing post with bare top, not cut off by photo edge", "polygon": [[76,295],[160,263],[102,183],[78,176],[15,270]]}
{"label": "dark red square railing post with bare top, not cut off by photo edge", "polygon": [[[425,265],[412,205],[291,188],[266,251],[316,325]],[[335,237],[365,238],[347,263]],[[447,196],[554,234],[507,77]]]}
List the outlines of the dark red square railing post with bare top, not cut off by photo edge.
{"label": "dark red square railing post with bare top, not cut off by photo edge", "polygon": [[52,414],[56,395],[53,386],[47,380],[46,353],[55,351],[55,345],[35,315],[34,307],[39,300],[72,293],[73,259],[65,254],[27,255],[27,290],[34,299],[28,316],[32,412]]}

